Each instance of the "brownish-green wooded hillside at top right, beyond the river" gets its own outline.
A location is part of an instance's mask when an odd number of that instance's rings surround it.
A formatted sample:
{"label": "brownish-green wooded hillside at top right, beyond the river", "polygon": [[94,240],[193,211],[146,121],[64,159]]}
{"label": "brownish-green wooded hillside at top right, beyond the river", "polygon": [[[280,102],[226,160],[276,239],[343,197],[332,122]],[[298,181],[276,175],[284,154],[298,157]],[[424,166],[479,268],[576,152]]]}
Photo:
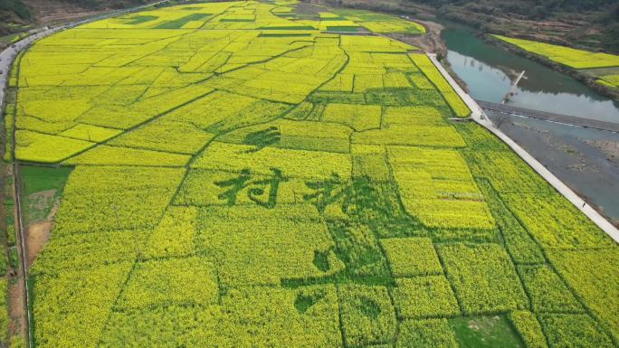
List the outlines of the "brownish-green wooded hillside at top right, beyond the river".
{"label": "brownish-green wooded hillside at top right, beyond the river", "polygon": [[[314,0],[312,0],[314,1]],[[617,0],[315,0],[389,12],[431,13],[488,33],[619,52]]]}

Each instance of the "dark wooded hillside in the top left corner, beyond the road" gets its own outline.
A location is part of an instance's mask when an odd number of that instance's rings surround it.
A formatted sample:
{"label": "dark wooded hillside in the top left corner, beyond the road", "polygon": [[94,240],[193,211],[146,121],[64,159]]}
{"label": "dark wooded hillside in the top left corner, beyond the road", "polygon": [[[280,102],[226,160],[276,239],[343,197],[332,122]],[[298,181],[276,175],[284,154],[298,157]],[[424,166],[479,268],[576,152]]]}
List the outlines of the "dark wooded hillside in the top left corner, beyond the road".
{"label": "dark wooded hillside in the top left corner, beyond the road", "polygon": [[[94,11],[146,4],[149,0],[0,0],[0,36],[24,31],[47,19],[70,19]],[[43,23],[41,23],[43,21]]]}

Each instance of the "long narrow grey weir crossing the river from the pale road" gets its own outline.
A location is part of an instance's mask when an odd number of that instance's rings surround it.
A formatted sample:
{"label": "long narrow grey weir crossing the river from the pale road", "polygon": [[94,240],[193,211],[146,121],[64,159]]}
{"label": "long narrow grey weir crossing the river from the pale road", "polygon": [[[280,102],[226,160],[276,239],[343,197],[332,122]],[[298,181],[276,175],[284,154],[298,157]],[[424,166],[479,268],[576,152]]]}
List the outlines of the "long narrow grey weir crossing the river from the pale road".
{"label": "long narrow grey weir crossing the river from the pale road", "polygon": [[532,110],[529,108],[512,107],[505,104],[491,103],[489,101],[475,100],[480,108],[487,111],[500,112],[502,114],[520,116],[525,118],[538,118],[550,122],[563,123],[567,125],[573,125],[578,127],[587,127],[606,130],[610,132],[619,133],[619,123],[600,121],[590,118],[576,118],[574,116],[567,116],[561,114],[555,114],[552,112]]}

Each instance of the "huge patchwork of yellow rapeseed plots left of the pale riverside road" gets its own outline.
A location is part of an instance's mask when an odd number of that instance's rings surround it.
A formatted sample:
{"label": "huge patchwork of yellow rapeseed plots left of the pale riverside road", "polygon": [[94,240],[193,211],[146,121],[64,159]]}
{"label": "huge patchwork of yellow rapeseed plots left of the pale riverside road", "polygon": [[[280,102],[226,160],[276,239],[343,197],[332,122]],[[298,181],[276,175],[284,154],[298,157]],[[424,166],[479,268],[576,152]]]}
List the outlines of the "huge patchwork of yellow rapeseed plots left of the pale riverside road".
{"label": "huge patchwork of yellow rapeseed plots left of the pale riverside road", "polygon": [[73,168],[36,347],[616,346],[614,241],[452,122],[471,111],[414,47],[330,26],[423,31],[295,6],[163,7],[24,54],[16,159]]}

